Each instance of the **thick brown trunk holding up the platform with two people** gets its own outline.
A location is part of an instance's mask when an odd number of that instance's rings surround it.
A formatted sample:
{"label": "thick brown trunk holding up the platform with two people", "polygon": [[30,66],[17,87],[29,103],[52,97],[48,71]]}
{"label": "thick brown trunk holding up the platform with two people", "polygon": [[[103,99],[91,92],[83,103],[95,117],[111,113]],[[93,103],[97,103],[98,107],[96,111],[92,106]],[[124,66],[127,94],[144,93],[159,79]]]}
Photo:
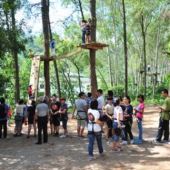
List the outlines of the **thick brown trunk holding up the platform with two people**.
{"label": "thick brown trunk holding up the platform with two people", "polygon": [[[96,0],[90,0],[91,12],[91,41],[96,41]],[[97,78],[96,78],[96,50],[90,49],[90,88],[92,97],[96,98]]]}

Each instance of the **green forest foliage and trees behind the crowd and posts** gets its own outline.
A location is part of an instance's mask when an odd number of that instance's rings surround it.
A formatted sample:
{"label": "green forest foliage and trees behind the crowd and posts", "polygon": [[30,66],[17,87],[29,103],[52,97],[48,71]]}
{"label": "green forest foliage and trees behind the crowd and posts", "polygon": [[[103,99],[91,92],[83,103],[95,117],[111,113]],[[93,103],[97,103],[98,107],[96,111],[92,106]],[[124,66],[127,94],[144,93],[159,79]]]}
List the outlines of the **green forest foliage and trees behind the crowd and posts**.
{"label": "green forest foliage and trees behind the crowd and posts", "polygon": [[[69,10],[64,19],[56,17],[55,20],[54,15],[50,15],[54,20],[51,28],[57,42],[56,52],[60,56],[77,50],[77,45],[81,43],[78,23],[82,18],[79,0],[53,1],[50,2],[50,7],[55,3],[60,3],[61,8]],[[90,18],[89,1],[81,3],[85,18]],[[146,103],[160,103],[160,92],[163,88],[168,88],[170,82],[170,2],[125,0],[125,9],[128,95],[136,101],[137,94],[144,94],[146,87]],[[22,17],[18,17],[17,13],[21,11]],[[39,22],[41,2],[2,0],[0,12],[0,94],[7,99],[9,105],[14,106],[18,98],[26,100],[28,97],[32,61],[28,49],[43,55],[42,26],[38,25],[39,33],[35,34],[28,24],[30,20]],[[122,0],[97,1],[96,15],[97,41],[109,45],[109,48],[97,51],[96,74],[100,80],[98,88],[105,93],[113,90],[114,96],[123,96],[125,69]],[[83,50],[75,56],[56,62],[61,95],[73,104],[78,94],[74,87],[77,86],[81,91],[83,84],[79,81],[80,77],[89,77],[89,52]],[[148,72],[144,63],[150,65],[151,71]],[[43,77],[43,64],[40,70],[40,77]],[[71,81],[72,73],[77,75],[77,81]],[[57,89],[53,63],[50,63],[50,80]],[[39,92],[39,95],[43,93]]]}

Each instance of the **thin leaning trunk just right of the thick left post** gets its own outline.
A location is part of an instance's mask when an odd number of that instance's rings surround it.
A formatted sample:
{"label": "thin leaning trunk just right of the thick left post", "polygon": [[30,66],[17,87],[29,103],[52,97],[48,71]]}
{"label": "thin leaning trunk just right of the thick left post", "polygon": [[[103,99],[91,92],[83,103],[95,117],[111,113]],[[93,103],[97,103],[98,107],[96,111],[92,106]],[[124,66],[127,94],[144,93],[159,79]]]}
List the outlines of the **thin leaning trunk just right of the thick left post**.
{"label": "thin leaning trunk just right of the thick left post", "polygon": [[[52,36],[52,32],[51,32],[50,20],[49,20],[49,32],[50,32],[50,40],[52,41],[53,36]],[[59,75],[58,75],[57,61],[54,60],[53,64],[54,64],[54,71],[55,71],[55,76],[56,76],[56,81],[57,81],[58,97],[60,99],[61,98],[61,89],[60,89],[60,78],[59,78]]]}

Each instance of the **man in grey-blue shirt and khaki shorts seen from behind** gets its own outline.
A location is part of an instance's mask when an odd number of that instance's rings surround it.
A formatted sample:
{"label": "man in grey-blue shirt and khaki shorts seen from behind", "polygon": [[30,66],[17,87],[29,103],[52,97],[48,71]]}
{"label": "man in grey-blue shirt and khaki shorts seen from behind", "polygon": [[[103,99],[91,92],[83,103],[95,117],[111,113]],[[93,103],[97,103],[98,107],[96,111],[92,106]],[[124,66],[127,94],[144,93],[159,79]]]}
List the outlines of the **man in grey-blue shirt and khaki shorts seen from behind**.
{"label": "man in grey-blue shirt and khaki shorts seen from behind", "polygon": [[72,118],[74,118],[75,110],[77,109],[77,138],[83,138],[85,122],[87,118],[87,102],[85,100],[85,93],[79,93],[79,99],[75,101]]}

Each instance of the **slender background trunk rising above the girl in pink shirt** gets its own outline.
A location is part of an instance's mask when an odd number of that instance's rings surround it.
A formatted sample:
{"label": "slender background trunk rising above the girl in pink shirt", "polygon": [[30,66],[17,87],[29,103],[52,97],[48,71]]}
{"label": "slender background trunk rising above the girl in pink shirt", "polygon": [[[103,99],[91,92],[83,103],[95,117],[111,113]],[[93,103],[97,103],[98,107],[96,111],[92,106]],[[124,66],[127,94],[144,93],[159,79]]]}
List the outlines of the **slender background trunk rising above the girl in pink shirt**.
{"label": "slender background trunk rising above the girl in pink shirt", "polygon": [[141,27],[142,27],[142,37],[143,37],[143,62],[144,62],[144,78],[143,78],[143,84],[144,84],[144,96],[146,97],[146,31],[144,26],[144,17],[143,14],[141,16]]}

